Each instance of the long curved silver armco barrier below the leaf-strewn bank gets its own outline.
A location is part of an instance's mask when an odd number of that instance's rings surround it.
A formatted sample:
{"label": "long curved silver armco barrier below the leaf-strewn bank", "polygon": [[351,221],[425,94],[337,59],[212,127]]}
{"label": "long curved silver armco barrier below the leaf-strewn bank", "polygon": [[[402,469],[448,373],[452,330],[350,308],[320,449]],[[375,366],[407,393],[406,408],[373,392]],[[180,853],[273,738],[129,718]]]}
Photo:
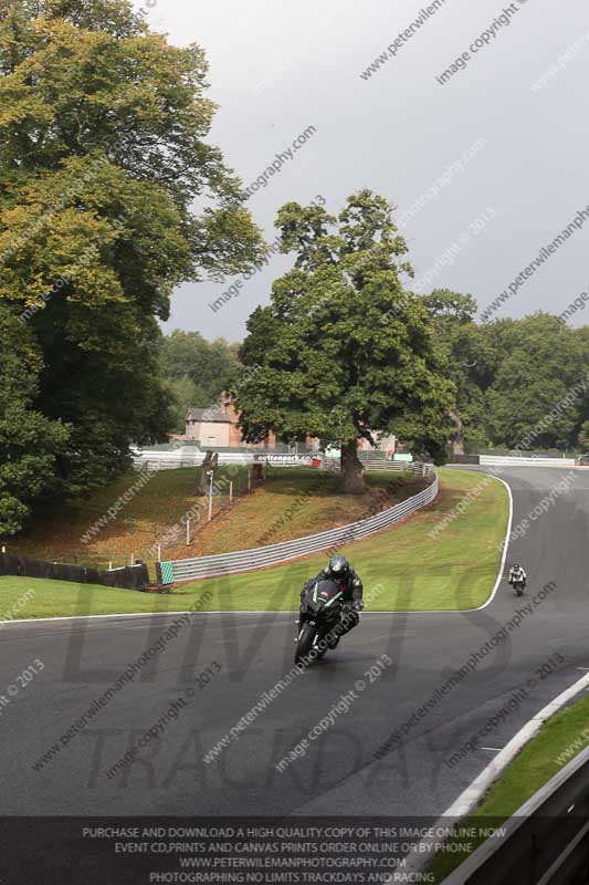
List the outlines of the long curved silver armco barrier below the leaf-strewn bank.
{"label": "long curved silver armco barrier below the leaf-strewn bank", "polygon": [[[408,465],[406,465],[407,469]],[[380,513],[367,517],[348,525],[329,529],[318,534],[307,534],[293,541],[283,541],[267,546],[253,548],[252,550],[238,550],[234,553],[222,553],[212,556],[198,556],[191,560],[170,560],[158,562],[157,576],[161,584],[172,584],[176,581],[188,581],[198,577],[218,577],[220,575],[248,572],[263,569],[266,565],[276,565],[290,560],[305,556],[308,553],[318,553],[332,548],[339,549],[350,541],[357,541],[369,534],[392,525],[403,517],[414,513],[438,497],[438,475],[430,465],[414,465],[413,470],[422,476],[433,476],[433,481],[427,489],[408,498],[400,504],[382,510]]]}

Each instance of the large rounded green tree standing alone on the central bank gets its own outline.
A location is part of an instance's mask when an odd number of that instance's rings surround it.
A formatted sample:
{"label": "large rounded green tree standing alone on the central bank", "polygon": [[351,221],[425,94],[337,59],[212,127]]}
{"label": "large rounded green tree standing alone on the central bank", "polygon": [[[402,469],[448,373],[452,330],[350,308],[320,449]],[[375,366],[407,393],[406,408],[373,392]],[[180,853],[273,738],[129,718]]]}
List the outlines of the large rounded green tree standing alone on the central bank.
{"label": "large rounded green tree standing alone on the central bank", "polygon": [[412,271],[391,207],[368,190],[337,218],[291,202],[277,227],[296,260],[248,322],[240,356],[259,367],[238,395],[246,438],[274,430],[340,444],[348,490],[361,487],[357,441],[376,431],[443,458],[453,387],[425,305],[403,291]]}

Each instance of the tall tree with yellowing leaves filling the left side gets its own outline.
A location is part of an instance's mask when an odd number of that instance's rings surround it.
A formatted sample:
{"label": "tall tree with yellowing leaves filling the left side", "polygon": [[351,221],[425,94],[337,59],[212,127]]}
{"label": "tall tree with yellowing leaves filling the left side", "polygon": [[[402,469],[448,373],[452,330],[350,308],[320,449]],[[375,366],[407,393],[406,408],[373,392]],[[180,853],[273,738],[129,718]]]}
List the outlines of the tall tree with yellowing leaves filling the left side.
{"label": "tall tree with yellowing leaves filling the left side", "polygon": [[201,48],[169,45],[126,0],[0,12],[0,305],[41,360],[30,408],[70,427],[64,494],[169,429],[157,321],[172,289],[260,259],[242,186],[206,140],[206,77]]}

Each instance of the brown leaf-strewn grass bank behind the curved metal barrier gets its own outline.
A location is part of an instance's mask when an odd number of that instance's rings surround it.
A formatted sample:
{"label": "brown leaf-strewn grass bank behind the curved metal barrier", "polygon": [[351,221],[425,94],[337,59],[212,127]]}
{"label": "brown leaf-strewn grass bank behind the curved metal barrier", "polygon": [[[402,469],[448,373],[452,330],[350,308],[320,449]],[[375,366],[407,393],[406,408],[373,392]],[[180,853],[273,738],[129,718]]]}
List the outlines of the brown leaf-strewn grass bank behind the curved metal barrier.
{"label": "brown leaf-strewn grass bank behind the curved metal barrier", "polygon": [[[390,507],[423,487],[423,479],[412,473],[374,473],[365,494],[343,496],[337,476],[273,466],[267,481],[250,494],[249,470],[246,466],[219,468],[217,479],[224,493],[213,498],[211,522],[207,520],[207,499],[194,493],[198,468],[186,467],[155,472],[115,519],[101,524],[117,499],[133,490],[139,473],[132,470],[95,490],[87,500],[55,501],[39,510],[27,530],[10,539],[9,552],[97,569],[107,569],[108,563],[126,565],[133,553],[154,574],[158,543],[165,560],[246,550],[361,519],[371,504],[378,506],[379,490],[387,492],[381,507]],[[232,504],[223,479],[233,481]],[[294,513],[285,518],[293,502]],[[182,522],[187,513],[191,514],[189,544]]]}

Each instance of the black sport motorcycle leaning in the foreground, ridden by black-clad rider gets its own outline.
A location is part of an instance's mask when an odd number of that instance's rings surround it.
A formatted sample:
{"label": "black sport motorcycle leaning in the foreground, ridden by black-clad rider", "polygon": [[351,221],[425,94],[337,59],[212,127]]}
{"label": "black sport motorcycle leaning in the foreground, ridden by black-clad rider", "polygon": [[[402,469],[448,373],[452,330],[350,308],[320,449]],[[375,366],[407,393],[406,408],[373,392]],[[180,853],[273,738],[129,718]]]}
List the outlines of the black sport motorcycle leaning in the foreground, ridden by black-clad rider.
{"label": "black sport motorcycle leaning in the foreground, ridden by black-clad rider", "polygon": [[[298,617],[295,664],[324,657],[329,648],[330,632],[341,621],[344,591],[334,581],[317,581],[303,596]],[[335,647],[335,646],[334,646]]]}

